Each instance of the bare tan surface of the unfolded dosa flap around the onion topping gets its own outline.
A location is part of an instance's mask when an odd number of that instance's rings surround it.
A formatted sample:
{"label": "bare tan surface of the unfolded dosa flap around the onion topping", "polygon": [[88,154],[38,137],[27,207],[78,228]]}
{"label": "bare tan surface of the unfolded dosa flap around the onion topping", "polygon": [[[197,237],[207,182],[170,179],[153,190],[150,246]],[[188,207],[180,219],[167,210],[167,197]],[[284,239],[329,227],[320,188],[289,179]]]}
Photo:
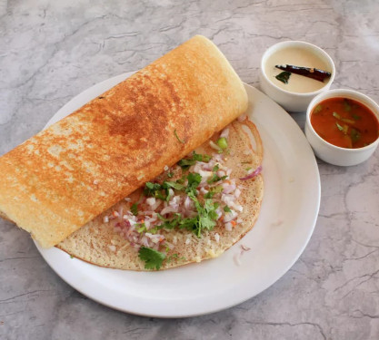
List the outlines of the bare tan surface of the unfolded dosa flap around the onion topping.
{"label": "bare tan surface of the unfolded dosa flap around the onion topping", "polygon": [[[247,126],[253,132],[252,136],[246,133],[244,126]],[[213,140],[216,141],[218,136],[219,133],[216,133]],[[256,141],[256,147],[252,146],[250,137],[253,137]],[[260,141],[259,133],[251,121],[234,121],[230,124],[228,144],[232,152],[227,157],[225,164],[228,168],[233,169],[231,178],[244,177],[246,167],[255,169],[261,164],[262,141]],[[246,154],[247,152],[245,151],[247,150],[252,152]],[[212,149],[209,147],[208,142],[205,142],[196,151],[210,154]],[[212,231],[204,233],[202,238],[197,238],[193,232],[188,230],[161,230],[160,232],[165,235],[165,239],[168,242],[174,243],[173,240],[176,238],[175,248],[167,256],[177,254],[172,261],[165,261],[162,269],[184,266],[188,263],[217,257],[226,249],[232,247],[235,242],[244,237],[246,232],[253,228],[259,215],[264,194],[263,177],[258,175],[252,180],[237,180],[237,183],[244,186],[239,199],[239,202],[244,206],[244,211],[239,214],[239,218],[242,218],[244,222],[238,224],[232,231],[226,231],[224,224],[219,223]],[[136,201],[140,194],[141,189],[138,189],[130,198],[132,201]],[[70,237],[65,238],[57,247],[74,257],[97,266],[145,270],[145,263],[138,258],[137,250],[131,247],[125,238],[122,238],[114,231],[112,223],[103,222],[104,216],[111,215],[112,211],[119,211],[120,207],[123,207],[124,211],[129,209],[128,204],[130,203],[126,203],[125,200],[118,202],[114,207],[87,223]],[[215,233],[220,236],[219,242],[214,237]],[[189,244],[187,244],[187,239],[190,240]]]}

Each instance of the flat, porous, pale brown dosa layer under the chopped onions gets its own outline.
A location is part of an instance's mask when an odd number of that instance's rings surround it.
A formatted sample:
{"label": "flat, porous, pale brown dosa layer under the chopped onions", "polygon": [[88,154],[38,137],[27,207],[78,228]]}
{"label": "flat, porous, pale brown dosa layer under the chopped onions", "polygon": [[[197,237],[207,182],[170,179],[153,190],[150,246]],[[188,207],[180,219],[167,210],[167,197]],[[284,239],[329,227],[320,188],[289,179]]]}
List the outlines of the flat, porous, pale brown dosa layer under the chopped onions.
{"label": "flat, porous, pale brown dosa layer under the chopped onions", "polygon": [[[246,129],[246,127],[248,129]],[[241,188],[241,194],[236,195],[238,198],[233,198],[234,202],[232,204],[234,204],[234,207],[235,204],[241,205],[243,209],[238,214],[235,214],[235,217],[230,216],[232,212],[224,213],[223,217],[224,219],[229,218],[234,220],[234,223],[235,221],[238,223],[234,225],[230,224],[229,227],[231,228],[228,230],[225,228],[227,224],[224,223],[222,218],[219,218],[214,228],[204,230],[200,236],[195,235],[192,230],[187,229],[163,228],[157,230],[157,234],[165,238],[165,241],[162,242],[159,247],[155,247],[159,249],[162,256],[165,256],[159,269],[180,267],[189,263],[200,262],[204,259],[219,257],[225,250],[232,247],[235,242],[243,238],[244,235],[254,227],[264,195],[263,176],[261,173],[258,173],[251,179],[240,179],[246,178],[247,170],[260,168],[263,157],[262,141],[259,132],[251,121],[233,121],[226,129],[229,131],[227,139],[228,150],[216,157],[223,160],[223,164],[227,169],[232,170],[227,180],[233,180],[236,186]],[[250,131],[252,133],[248,133]],[[220,133],[216,132],[211,141],[217,141],[219,135]],[[254,141],[254,143],[252,144],[251,141]],[[195,152],[197,154],[210,155],[215,151],[210,147],[209,141],[206,141],[199,148],[196,148]],[[176,165],[174,169],[177,170],[177,168],[180,167]],[[171,170],[166,170],[165,174],[161,174],[156,180],[167,180],[167,173],[170,173],[170,171]],[[176,178],[180,179],[182,175],[183,171],[179,169],[179,173],[176,173]],[[214,188],[220,188],[220,184],[216,183],[214,185]],[[224,191],[230,192],[233,190],[233,188],[229,191],[227,191],[227,189],[228,188]],[[198,189],[198,191],[201,190]],[[185,197],[185,193],[182,193],[182,196]],[[199,192],[198,197],[201,196],[203,195]],[[217,195],[214,195],[214,198],[216,198],[216,196]],[[221,196],[222,194],[219,193],[215,200],[219,201],[220,206],[223,207],[224,202],[220,199]],[[185,201],[184,197],[182,202]],[[143,190],[137,189],[129,198],[121,200],[115,204],[114,207],[106,210],[103,214],[88,222],[83,228],[80,228],[68,238],[65,238],[65,240],[56,247],[65,250],[65,252],[72,257],[80,258],[97,266],[138,271],[146,270],[145,262],[139,257],[139,248],[136,248],[132,242],[125,238],[125,234],[122,235],[117,231],[117,226],[123,226],[123,224],[127,226],[126,223],[129,216],[127,214],[132,203],[145,201],[145,199]],[[160,206],[162,206],[162,204]],[[149,206],[146,206],[146,204],[145,207],[145,209],[151,209]],[[235,209],[234,207],[231,208]],[[238,206],[236,208],[238,208]],[[223,209],[220,210],[224,211]],[[113,218],[114,214],[117,217]],[[152,216],[151,212],[147,212],[147,214]],[[173,213],[168,215],[175,216]],[[138,229],[142,225],[141,221],[145,219],[142,211],[137,214],[136,219],[140,221],[138,227],[135,227],[135,229]],[[158,220],[157,224],[161,223],[162,221]],[[124,229],[125,232],[129,233],[130,228],[130,225],[127,226],[127,228]],[[146,232],[152,233],[154,230],[150,227]],[[143,245],[144,232],[135,232],[135,234],[138,240],[137,242]],[[158,236],[156,234],[149,235],[152,238]],[[154,245],[154,243],[152,244]],[[240,251],[244,250],[248,250],[248,248],[244,248]]]}

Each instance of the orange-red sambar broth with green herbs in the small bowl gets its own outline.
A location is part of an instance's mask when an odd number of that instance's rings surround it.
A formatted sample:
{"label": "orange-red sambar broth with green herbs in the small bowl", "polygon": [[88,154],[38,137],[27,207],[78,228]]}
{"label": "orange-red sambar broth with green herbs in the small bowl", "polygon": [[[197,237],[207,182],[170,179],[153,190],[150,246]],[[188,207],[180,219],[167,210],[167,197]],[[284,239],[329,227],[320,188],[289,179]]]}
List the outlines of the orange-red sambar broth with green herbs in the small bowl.
{"label": "orange-red sambar broth with green herbs in the small bowl", "polygon": [[311,113],[314,131],[341,148],[362,148],[378,138],[379,122],[364,104],[346,98],[329,98]]}

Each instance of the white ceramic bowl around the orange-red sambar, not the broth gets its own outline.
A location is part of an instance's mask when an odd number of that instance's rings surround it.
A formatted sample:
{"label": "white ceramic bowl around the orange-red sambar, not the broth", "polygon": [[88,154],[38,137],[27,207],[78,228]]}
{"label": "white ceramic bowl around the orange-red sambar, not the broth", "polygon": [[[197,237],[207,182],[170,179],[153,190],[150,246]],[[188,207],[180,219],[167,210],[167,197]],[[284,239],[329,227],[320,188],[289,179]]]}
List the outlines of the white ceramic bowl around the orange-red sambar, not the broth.
{"label": "white ceramic bowl around the orange-red sambar, not the broth", "polygon": [[335,146],[323,140],[311,124],[311,113],[320,102],[328,98],[347,98],[356,102],[361,102],[376,115],[379,121],[379,106],[371,98],[363,93],[353,90],[330,90],[320,93],[310,102],[306,111],[305,136],[314,150],[314,154],[321,160],[340,166],[356,165],[367,160],[375,151],[379,144],[379,137],[373,143],[358,149],[346,149]]}

